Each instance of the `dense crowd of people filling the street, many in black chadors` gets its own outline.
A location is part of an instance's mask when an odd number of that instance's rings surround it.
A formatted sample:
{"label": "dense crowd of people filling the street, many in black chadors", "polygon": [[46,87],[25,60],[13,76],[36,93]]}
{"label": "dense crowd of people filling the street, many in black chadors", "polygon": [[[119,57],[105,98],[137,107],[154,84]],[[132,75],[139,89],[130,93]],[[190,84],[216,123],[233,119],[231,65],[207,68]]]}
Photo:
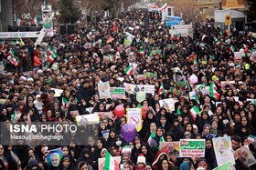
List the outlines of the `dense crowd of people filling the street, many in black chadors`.
{"label": "dense crowd of people filling the street, many in black chadors", "polygon": [[[255,135],[256,129],[255,103],[251,102],[255,100],[256,90],[255,38],[235,29],[222,33],[210,21],[205,25],[197,23],[193,28],[193,38],[172,36],[168,26],[152,19],[145,11],[103,18],[98,23],[80,22],[71,35],[61,35],[56,24],[56,34],[44,39],[44,43],[58,55],[53,61],[45,58],[48,47],[34,46],[31,39],[24,40],[25,45],[11,45],[6,41],[0,54],[2,65],[5,64],[0,75],[2,123],[14,124],[13,115],[20,113],[16,121],[26,124],[29,121],[72,124],[76,120],[70,112],[76,110],[79,115],[112,112],[112,118],[102,118],[98,130],[72,134],[80,135],[86,144],[74,139],[68,145],[61,145],[63,157],[57,160],[58,163],[52,159],[52,165],[47,164],[45,151],[59,145],[0,145],[0,169],[96,170],[99,169],[99,158],[105,157],[108,151],[112,156],[121,156],[121,169],[208,170],[218,166],[212,139],[221,136],[231,136],[233,151],[249,145],[255,155],[256,146],[247,140],[249,135]],[[126,32],[134,36],[131,45],[123,43]],[[108,41],[110,38],[113,40]],[[88,43],[91,46],[87,46]],[[20,65],[14,65],[11,60],[14,57],[8,55],[11,49]],[[140,53],[142,50],[143,54]],[[151,55],[154,50],[161,52]],[[234,52],[244,55],[237,59]],[[127,75],[125,70],[131,63],[137,67],[132,75]],[[177,88],[176,67],[187,81],[191,75],[197,75],[197,83],[191,84],[188,90],[171,91],[171,88]],[[148,72],[157,74],[157,78],[138,80],[137,75]],[[234,83],[221,86],[222,81]],[[140,103],[132,93],[125,93],[125,99],[100,99],[98,84],[101,82],[109,82],[111,87],[120,87],[124,83],[155,85],[155,95],[146,94],[146,99]],[[198,102],[189,97],[189,91],[195,91],[196,85],[209,86],[212,82],[219,95],[203,94],[199,89]],[[161,85],[165,90],[159,94]],[[63,93],[56,97],[53,89],[62,89]],[[65,105],[63,98],[68,101]],[[159,101],[167,98],[177,100],[174,111],[160,106]],[[107,108],[107,105],[111,106]],[[126,123],[126,116],[115,115],[117,105],[123,105],[125,109],[143,107],[143,128],[132,142],[123,139],[121,128]],[[189,112],[195,105],[201,111],[196,118]],[[108,138],[102,135],[105,131],[109,131]],[[2,131],[1,140],[5,138],[4,134]],[[152,134],[155,137],[148,144]],[[165,142],[205,139],[205,157],[177,157],[174,145],[170,145],[170,153],[158,153],[163,138]],[[121,154],[125,145],[132,145],[132,154]],[[235,167],[255,168],[254,165],[243,165],[239,159]]]}

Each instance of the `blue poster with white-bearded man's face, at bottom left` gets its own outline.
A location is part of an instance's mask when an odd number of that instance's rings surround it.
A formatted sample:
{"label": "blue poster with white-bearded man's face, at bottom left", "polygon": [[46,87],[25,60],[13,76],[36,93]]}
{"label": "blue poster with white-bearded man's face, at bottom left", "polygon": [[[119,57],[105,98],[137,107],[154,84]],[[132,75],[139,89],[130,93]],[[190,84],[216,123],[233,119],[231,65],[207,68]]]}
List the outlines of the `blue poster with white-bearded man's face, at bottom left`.
{"label": "blue poster with white-bearded man's face, at bottom left", "polygon": [[63,157],[61,147],[46,151],[45,157],[46,157],[48,166],[58,167]]}

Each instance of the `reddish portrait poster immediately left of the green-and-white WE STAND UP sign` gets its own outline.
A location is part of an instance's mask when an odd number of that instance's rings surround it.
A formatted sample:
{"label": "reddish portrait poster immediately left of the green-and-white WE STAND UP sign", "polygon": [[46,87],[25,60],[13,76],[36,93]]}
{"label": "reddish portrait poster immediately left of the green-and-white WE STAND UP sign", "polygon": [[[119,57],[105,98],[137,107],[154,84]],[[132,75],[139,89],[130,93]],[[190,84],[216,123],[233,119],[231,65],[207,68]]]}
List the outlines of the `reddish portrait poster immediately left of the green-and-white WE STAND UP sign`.
{"label": "reddish portrait poster immediately left of the green-and-white WE STAND UP sign", "polygon": [[160,150],[167,155],[179,157],[179,142],[160,142]]}

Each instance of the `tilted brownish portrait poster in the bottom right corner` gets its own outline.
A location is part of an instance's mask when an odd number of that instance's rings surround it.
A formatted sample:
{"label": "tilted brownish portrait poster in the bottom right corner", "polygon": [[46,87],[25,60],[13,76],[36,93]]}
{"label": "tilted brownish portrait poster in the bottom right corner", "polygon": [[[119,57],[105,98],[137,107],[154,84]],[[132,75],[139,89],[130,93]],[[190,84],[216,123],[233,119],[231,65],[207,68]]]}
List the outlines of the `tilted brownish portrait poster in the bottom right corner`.
{"label": "tilted brownish portrait poster in the bottom right corner", "polygon": [[241,163],[247,166],[254,165],[256,163],[255,158],[251,154],[248,145],[244,145],[234,152],[235,159],[240,159]]}

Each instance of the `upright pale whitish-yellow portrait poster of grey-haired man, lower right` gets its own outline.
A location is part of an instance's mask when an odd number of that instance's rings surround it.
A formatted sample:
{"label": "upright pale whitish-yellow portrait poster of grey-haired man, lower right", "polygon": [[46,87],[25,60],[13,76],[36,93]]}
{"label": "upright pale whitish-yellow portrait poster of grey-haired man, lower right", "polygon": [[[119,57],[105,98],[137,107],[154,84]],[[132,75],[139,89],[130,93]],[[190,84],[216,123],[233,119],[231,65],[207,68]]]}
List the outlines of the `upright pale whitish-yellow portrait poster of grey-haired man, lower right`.
{"label": "upright pale whitish-yellow portrait poster of grey-haired man, lower right", "polygon": [[230,136],[213,138],[212,142],[217,164],[223,165],[230,162],[232,165],[235,165]]}

